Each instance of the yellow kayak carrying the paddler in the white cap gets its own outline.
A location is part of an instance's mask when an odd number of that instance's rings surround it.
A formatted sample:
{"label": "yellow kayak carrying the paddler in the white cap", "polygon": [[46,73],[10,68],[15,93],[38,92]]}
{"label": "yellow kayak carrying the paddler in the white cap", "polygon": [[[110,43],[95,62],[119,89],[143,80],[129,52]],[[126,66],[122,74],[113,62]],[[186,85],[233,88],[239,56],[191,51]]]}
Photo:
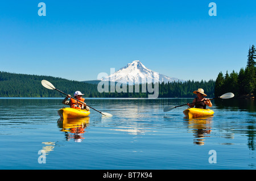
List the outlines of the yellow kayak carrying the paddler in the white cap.
{"label": "yellow kayak carrying the paddler in the white cap", "polygon": [[81,118],[81,117],[89,116],[90,111],[78,110],[75,108],[66,107],[66,108],[62,108],[62,109],[58,110],[58,114],[63,119]]}

